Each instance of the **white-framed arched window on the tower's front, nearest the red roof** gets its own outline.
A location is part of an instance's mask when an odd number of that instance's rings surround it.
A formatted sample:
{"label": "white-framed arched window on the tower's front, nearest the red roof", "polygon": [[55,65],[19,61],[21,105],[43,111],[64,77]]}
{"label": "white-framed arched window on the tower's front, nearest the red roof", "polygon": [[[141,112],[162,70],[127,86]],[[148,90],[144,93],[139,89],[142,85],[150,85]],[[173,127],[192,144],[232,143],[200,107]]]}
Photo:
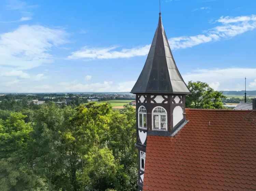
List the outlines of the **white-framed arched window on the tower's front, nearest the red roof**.
{"label": "white-framed arched window on the tower's front, nearest the red roof", "polygon": [[153,130],[167,131],[167,112],[165,108],[157,106],[152,111]]}

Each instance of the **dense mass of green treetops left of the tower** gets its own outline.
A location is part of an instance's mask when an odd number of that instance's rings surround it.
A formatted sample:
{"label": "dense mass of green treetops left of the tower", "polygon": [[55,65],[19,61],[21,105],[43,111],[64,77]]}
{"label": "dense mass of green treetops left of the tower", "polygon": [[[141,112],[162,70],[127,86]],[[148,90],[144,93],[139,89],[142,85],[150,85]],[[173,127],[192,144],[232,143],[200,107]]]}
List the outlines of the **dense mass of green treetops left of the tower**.
{"label": "dense mass of green treetops left of the tower", "polygon": [[0,190],[137,190],[134,108],[20,111],[0,110]]}

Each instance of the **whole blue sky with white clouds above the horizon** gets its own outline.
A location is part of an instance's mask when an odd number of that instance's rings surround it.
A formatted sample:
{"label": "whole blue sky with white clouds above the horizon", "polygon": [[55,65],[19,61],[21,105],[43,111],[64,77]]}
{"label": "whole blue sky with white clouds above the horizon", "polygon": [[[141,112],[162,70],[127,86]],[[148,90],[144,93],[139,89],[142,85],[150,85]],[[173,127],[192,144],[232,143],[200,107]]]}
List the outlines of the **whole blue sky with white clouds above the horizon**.
{"label": "whole blue sky with white clouds above the horizon", "polygon": [[[161,0],[184,81],[256,90],[255,0]],[[1,0],[0,92],[130,91],[158,23],[158,0]]]}

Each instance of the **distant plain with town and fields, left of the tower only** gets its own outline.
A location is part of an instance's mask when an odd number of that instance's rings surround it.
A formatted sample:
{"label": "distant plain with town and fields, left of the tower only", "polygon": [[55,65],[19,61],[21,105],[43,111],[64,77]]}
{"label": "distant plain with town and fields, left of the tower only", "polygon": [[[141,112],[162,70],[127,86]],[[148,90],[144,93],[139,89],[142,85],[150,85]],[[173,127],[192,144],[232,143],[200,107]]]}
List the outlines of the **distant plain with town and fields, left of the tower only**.
{"label": "distant plain with town and fields, left of the tower only", "polygon": [[113,109],[122,109],[125,104],[136,105],[135,95],[129,92],[0,93],[1,105],[4,105],[4,102],[6,104],[16,102],[28,105],[54,102],[60,106],[78,106],[88,102],[109,102]]}

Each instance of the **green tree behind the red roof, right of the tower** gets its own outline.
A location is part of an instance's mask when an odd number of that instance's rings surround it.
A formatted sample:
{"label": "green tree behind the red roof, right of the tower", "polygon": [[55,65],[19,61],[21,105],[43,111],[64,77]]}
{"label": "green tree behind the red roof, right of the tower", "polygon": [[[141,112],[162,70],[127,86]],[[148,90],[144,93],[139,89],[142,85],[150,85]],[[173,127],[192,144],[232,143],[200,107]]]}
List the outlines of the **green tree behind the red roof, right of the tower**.
{"label": "green tree behind the red roof, right of the tower", "polygon": [[222,109],[222,98],[226,98],[222,92],[215,91],[204,82],[188,82],[191,91],[186,97],[186,107],[203,109]]}

